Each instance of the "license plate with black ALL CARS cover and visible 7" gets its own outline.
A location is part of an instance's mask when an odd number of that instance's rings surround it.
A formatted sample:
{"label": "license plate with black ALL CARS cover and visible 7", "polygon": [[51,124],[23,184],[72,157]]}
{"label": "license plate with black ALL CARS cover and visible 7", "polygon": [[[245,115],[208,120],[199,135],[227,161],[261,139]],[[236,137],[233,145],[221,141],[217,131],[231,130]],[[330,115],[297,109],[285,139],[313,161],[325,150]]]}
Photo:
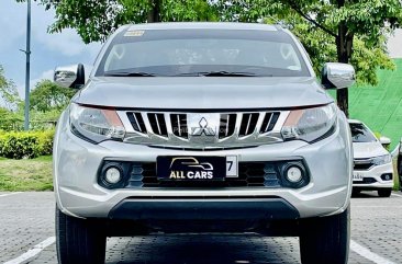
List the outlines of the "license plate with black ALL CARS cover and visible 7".
{"label": "license plate with black ALL CARS cover and visible 7", "polygon": [[224,181],[237,177],[237,157],[158,157],[157,177],[161,181]]}

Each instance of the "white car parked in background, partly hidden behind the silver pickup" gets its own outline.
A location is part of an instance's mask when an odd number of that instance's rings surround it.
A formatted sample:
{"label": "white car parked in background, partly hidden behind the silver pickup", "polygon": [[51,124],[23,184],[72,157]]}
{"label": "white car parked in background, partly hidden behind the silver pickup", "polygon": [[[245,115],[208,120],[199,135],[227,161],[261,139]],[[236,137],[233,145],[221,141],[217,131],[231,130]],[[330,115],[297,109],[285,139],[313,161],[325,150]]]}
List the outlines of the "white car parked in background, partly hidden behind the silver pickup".
{"label": "white car parked in background, partly hidden behind the silver pickup", "polygon": [[360,120],[349,119],[353,148],[353,191],[378,191],[380,197],[389,197],[393,187],[391,154],[382,145],[390,144],[386,137],[377,139],[375,134]]}

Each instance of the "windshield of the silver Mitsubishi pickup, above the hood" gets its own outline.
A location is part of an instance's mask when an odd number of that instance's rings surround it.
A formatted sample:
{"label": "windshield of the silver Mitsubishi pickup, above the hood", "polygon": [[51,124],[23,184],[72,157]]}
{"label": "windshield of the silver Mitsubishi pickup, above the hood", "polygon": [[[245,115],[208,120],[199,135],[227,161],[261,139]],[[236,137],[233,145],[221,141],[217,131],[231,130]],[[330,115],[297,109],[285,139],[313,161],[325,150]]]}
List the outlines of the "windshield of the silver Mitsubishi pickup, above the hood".
{"label": "windshield of the silver Mitsubishi pickup, above the hood", "polygon": [[301,77],[309,71],[283,32],[167,30],[122,32],[97,76]]}

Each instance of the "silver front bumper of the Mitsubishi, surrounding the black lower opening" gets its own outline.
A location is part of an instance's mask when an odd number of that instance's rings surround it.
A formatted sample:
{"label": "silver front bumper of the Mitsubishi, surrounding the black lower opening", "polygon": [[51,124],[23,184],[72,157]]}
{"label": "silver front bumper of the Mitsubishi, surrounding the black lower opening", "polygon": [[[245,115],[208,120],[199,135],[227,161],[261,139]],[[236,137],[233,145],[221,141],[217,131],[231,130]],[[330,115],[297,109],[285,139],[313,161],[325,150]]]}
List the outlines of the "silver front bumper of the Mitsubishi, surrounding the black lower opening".
{"label": "silver front bumper of the Mitsubishi, surrounding the black lower opening", "polygon": [[[165,210],[175,210],[175,205],[179,203],[180,206],[176,210],[181,214],[179,214],[180,217],[191,216],[194,210],[198,210],[198,215],[201,211],[204,213],[200,217],[212,217],[205,214],[213,208],[216,216],[224,217],[216,213],[216,208],[219,205],[227,205],[231,215],[244,218],[247,214],[243,210],[247,211],[252,208],[250,211],[259,217],[294,219],[338,214],[349,204],[351,150],[347,124],[343,120],[339,120],[334,135],[313,145],[288,141],[255,148],[214,151],[160,149],[119,141],[92,145],[72,135],[67,124],[67,117],[64,115],[55,137],[54,183],[58,207],[71,216],[108,218],[113,217],[113,211],[123,210],[130,218],[135,219],[142,217],[142,214],[150,217],[156,214],[156,209],[161,210],[161,205],[168,207]],[[97,181],[99,165],[105,158],[155,162],[158,156],[194,154],[237,156],[238,161],[303,159],[311,179],[309,185],[299,190],[266,187],[107,190]],[[182,197],[186,197],[186,200]],[[278,199],[293,208],[292,214],[289,214],[288,206],[280,210],[270,210],[269,208],[276,208]],[[253,203],[261,209],[250,207]],[[123,204],[130,204],[129,208],[123,206],[118,210],[119,205]]]}

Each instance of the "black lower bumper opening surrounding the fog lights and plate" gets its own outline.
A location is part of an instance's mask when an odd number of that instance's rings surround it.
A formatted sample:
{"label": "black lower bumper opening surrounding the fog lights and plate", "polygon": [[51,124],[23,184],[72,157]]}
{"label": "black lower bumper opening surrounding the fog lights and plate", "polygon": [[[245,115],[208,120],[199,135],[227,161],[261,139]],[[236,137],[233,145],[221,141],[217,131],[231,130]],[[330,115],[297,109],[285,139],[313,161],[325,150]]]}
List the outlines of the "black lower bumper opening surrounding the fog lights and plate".
{"label": "black lower bumper opening surrounding the fog lights and plate", "polygon": [[[225,177],[224,181],[168,181],[157,177],[156,162],[131,162],[105,160],[98,172],[98,182],[105,188],[225,188],[225,187],[265,187],[265,188],[300,188],[309,184],[310,175],[305,168],[302,183],[291,184],[286,180],[287,168],[298,164],[297,161],[244,161],[238,162],[238,176]],[[109,167],[121,168],[122,180],[116,185],[103,184],[104,170]],[[365,179],[365,181],[367,181]]]}

